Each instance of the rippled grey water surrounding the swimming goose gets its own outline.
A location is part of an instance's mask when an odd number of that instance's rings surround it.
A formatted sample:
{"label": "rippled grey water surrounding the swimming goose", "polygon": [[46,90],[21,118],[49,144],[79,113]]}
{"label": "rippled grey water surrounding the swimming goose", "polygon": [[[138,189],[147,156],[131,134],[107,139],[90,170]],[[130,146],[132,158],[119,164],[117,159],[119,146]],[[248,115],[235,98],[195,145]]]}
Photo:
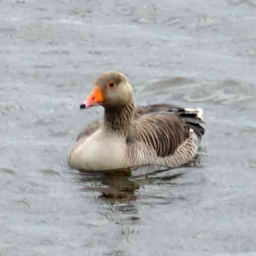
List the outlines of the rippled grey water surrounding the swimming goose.
{"label": "rippled grey water surrounding the swimming goose", "polygon": [[[0,255],[256,255],[256,1],[0,2]],[[67,166],[91,81],[201,107],[187,167]],[[182,174],[182,175],[181,175]]]}

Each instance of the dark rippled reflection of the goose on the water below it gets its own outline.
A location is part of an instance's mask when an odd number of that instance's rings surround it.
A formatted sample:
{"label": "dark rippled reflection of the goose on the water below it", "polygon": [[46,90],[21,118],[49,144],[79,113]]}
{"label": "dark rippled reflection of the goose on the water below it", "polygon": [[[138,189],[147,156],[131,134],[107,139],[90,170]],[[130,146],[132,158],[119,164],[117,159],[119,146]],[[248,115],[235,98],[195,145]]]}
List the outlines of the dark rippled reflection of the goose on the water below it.
{"label": "dark rippled reflection of the goose on the water below it", "polygon": [[[144,173],[147,169],[147,172]],[[153,171],[152,171],[153,169]],[[151,170],[150,172],[148,172]],[[171,172],[171,173],[170,173]],[[173,173],[171,169],[157,169],[155,167],[134,168],[127,173],[88,173],[79,172],[79,184],[82,190],[100,192],[99,199],[109,205],[104,215],[117,224],[137,222],[140,214],[134,202],[140,197],[138,190],[147,184],[162,180],[173,180],[183,173]],[[120,215],[120,213],[122,213]]]}

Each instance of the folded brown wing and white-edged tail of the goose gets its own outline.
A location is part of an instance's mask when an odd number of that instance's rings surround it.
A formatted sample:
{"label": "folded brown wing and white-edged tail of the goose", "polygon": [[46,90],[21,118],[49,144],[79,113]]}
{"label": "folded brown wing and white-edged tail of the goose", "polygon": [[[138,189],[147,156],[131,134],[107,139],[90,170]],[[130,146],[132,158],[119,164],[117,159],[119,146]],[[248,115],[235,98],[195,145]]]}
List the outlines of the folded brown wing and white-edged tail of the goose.
{"label": "folded brown wing and white-edged tail of the goose", "polygon": [[159,157],[172,155],[189,137],[191,128],[199,139],[204,134],[201,109],[162,104],[147,108],[150,109],[149,114],[144,111],[132,124],[128,142],[143,142],[153,148]]}

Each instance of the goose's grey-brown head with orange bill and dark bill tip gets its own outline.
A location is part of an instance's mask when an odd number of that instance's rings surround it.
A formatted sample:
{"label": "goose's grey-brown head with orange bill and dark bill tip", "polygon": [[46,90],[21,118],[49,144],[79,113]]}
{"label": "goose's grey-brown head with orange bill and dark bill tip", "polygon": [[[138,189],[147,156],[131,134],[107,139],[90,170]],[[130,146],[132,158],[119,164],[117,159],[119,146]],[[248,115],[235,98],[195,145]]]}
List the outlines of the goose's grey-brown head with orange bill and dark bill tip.
{"label": "goose's grey-brown head with orange bill and dark bill tip", "polygon": [[134,94],[127,77],[117,71],[106,71],[93,82],[93,89],[80,109],[94,106],[119,108],[133,102]]}

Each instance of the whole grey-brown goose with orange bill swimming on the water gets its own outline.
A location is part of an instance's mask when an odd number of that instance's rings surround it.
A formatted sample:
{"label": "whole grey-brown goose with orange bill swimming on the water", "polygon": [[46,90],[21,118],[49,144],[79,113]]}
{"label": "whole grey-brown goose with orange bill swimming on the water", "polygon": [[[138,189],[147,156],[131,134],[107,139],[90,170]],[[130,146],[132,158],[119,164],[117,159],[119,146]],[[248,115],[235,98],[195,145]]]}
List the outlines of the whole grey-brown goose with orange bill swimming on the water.
{"label": "whole grey-brown goose with orange bill swimming on the water", "polygon": [[103,121],[96,121],[77,137],[68,153],[70,167],[80,170],[126,169],[141,165],[178,167],[197,153],[204,128],[202,110],[174,105],[134,108],[134,93],[127,77],[103,72],[80,109],[103,106]]}

